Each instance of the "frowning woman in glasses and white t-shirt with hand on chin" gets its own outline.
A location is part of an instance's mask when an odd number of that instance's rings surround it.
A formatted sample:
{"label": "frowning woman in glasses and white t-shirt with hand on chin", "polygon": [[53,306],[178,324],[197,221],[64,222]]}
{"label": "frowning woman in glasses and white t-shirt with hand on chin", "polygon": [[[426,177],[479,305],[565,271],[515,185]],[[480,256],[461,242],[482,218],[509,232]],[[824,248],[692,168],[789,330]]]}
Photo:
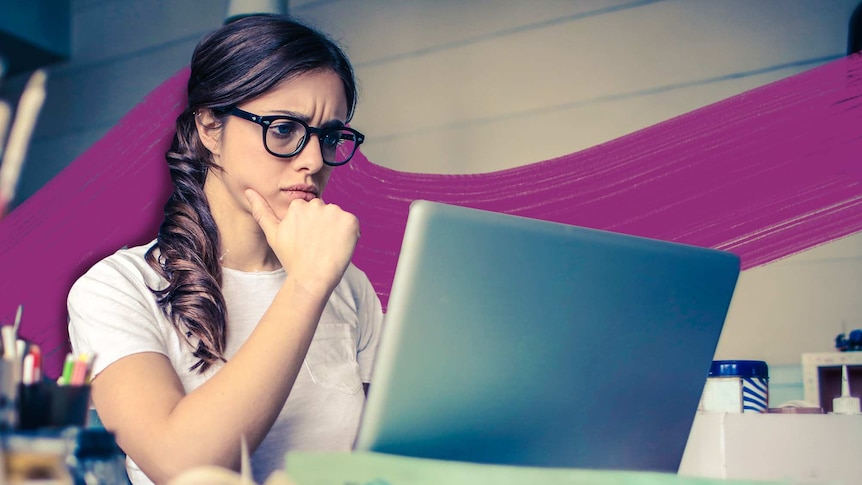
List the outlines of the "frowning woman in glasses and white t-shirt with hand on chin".
{"label": "frowning woman in glasses and white t-shirt with hand on chin", "polygon": [[245,17],[195,49],[158,238],[68,299],[133,483],[237,469],[241,437],[258,482],[289,449],[352,446],[382,312],[350,264],[356,218],[320,196],[362,142],[355,103],[343,52],[289,18]]}

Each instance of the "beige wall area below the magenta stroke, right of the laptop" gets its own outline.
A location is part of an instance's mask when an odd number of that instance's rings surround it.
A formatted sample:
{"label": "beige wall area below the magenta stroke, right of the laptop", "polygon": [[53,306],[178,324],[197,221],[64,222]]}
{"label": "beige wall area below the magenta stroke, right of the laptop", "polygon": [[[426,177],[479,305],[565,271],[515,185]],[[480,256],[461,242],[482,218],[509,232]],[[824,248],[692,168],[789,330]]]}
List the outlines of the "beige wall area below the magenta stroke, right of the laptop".
{"label": "beige wall area below the magenta stroke, right of the laptop", "polygon": [[739,279],[719,358],[799,364],[862,328],[862,234],[752,268]]}

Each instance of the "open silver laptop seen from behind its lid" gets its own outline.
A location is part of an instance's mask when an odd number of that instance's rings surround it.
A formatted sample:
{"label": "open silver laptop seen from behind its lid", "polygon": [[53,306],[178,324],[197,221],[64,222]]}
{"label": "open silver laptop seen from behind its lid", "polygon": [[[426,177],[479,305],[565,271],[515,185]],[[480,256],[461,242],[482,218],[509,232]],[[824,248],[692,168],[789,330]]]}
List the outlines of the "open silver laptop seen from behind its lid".
{"label": "open silver laptop seen from behind its lid", "polygon": [[416,201],[356,449],[676,472],[733,254]]}

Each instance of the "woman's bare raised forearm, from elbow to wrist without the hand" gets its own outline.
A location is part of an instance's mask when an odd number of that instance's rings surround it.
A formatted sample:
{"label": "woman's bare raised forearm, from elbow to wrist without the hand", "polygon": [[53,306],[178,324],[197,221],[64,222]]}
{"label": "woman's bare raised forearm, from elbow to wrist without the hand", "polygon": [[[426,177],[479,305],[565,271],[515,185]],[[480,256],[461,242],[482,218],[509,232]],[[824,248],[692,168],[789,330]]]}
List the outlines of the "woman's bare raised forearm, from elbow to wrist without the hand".
{"label": "woman's bare raised forearm, from elbow to wrist without the hand", "polygon": [[255,450],[281,412],[328,296],[288,277],[245,344],[208,381],[176,399],[152,399],[154,417],[118,427],[144,473],[161,481],[197,465],[238,468],[241,436]]}

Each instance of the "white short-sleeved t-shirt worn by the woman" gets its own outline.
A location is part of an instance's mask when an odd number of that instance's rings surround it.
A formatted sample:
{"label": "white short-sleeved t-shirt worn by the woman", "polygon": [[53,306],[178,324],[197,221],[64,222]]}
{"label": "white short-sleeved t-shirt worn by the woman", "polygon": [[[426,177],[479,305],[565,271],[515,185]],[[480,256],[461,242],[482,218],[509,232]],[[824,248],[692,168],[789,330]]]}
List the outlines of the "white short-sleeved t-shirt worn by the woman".
{"label": "white short-sleeved t-shirt worn by the woman", "polygon": [[[188,393],[221,365],[213,365],[204,374],[189,371],[198,359],[148,288],[165,286],[164,279],[144,260],[148,247],[118,251],[72,286],[68,298],[72,350],[96,355],[93,376],[131,354],[164,354]],[[223,270],[228,360],[260,321],[285,277],[283,269],[259,273]],[[377,294],[365,273],[351,264],[323,311],[284,409],[251,457],[257,483],[284,468],[288,450],[351,449],[365,403],[362,383],[371,380],[382,321]],[[132,483],[152,483],[131,459],[126,465]]]}

